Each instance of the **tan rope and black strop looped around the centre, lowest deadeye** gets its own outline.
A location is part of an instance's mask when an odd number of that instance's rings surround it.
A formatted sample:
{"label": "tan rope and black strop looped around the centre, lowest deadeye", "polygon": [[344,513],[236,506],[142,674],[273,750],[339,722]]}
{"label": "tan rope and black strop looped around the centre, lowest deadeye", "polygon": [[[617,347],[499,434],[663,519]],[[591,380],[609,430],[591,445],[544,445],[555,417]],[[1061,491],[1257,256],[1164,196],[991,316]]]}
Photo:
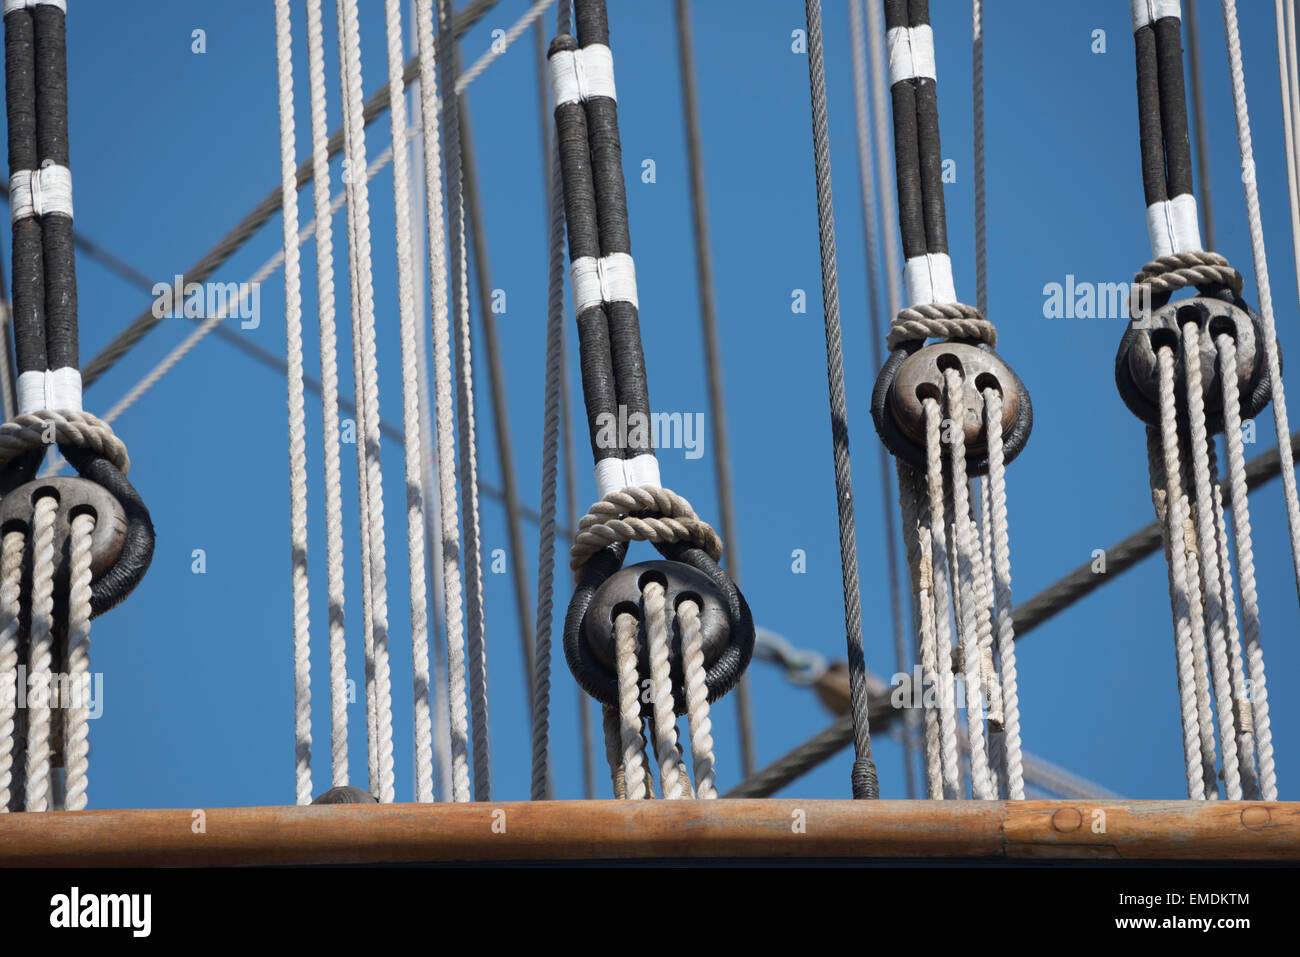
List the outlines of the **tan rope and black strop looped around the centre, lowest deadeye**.
{"label": "tan rope and black strop looped around the centre, lowest deadeye", "polygon": [[670,562],[696,568],[725,602],[729,642],[705,674],[708,701],[716,701],[749,667],[754,654],[754,618],[745,596],[718,564],[723,553],[718,533],[696,515],[685,498],[670,489],[632,486],[614,492],[593,505],[578,523],[569,553],[577,581],[564,616],[564,657],[569,670],[593,698],[618,705],[618,675],[595,659],[582,638],[582,620],[601,585],[623,567],[633,541],[647,541]]}

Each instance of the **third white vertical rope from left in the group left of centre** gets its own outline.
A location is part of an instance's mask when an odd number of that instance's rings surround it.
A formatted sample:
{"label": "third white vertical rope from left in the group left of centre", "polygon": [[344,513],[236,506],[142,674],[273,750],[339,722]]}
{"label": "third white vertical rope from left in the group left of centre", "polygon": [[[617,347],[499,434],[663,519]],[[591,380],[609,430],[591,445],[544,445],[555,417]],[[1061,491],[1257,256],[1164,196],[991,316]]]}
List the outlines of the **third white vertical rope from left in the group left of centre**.
{"label": "third white vertical rope from left in the group left of centre", "polygon": [[[356,0],[338,5],[343,75],[343,122],[350,131],[344,155],[356,168],[365,166],[365,122],[361,116],[361,38]],[[377,780],[370,792],[382,804],[394,798],[393,692],[389,672],[387,570],[384,542],[384,480],[380,468],[380,382],[374,341],[374,283],[370,274],[370,200],[367,181],[348,177],[348,254],[358,278],[359,312],[352,320],[354,363],[359,365],[358,412],[361,436],[356,443],[358,468],[365,473],[361,534],[369,549],[370,631],[376,713]],[[369,684],[369,683],[368,683]]]}

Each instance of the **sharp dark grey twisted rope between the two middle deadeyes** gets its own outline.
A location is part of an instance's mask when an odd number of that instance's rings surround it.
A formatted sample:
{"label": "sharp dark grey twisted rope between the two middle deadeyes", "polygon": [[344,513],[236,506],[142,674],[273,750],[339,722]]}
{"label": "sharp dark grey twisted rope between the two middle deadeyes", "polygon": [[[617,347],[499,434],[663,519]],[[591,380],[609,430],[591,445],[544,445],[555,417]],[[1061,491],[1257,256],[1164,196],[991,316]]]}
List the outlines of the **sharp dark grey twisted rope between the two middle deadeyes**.
{"label": "sharp dark grey twisted rope between the two middle deadeyes", "polygon": [[854,716],[853,796],[855,798],[875,798],[880,796],[880,785],[876,780],[875,762],[871,758],[871,728],[867,716],[866,654],[862,646],[862,598],[858,585],[858,546],[853,516],[853,475],[849,464],[848,404],[844,397],[844,346],[840,335],[840,289],[836,274],[831,134],[827,118],[826,64],[822,53],[820,0],[805,0],[803,10],[809,31],[809,87],[812,103],[812,150],[816,166],[827,386],[831,398],[835,490],[840,519],[844,624],[849,651],[849,693]]}

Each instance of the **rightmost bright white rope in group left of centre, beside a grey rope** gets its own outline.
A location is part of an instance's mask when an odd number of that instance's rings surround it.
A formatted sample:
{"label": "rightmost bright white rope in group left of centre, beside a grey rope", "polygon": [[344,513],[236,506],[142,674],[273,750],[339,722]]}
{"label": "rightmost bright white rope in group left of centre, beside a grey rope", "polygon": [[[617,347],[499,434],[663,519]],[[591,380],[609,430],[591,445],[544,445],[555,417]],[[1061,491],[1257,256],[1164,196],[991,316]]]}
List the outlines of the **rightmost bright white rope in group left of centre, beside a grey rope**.
{"label": "rightmost bright white rope in group left of centre, beside a grey rope", "polygon": [[438,442],[438,501],[442,510],[442,588],[447,628],[447,693],[451,728],[451,794],[469,800],[469,707],[465,697],[465,636],[462,622],[460,520],[451,408],[451,321],[447,308],[446,213],[438,135],[438,72],[433,0],[416,0],[420,40],[420,114],[424,129],[424,202],[429,239],[429,298],[433,315],[434,415]]}

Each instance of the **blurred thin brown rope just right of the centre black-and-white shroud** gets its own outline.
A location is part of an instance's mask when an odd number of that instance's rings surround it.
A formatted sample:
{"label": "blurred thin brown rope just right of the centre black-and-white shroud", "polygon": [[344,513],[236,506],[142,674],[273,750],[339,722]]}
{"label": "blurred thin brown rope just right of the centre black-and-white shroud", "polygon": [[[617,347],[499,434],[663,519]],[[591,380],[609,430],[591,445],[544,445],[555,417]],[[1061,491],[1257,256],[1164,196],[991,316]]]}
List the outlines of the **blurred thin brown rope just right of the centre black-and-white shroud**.
{"label": "blurred thin brown rope just right of the centre black-and-white shroud", "polygon": [[[696,91],[694,43],[690,8],[677,0],[677,62],[681,77],[681,112],[686,133],[686,159],[690,170],[690,215],[696,239],[696,276],[699,290],[699,325],[705,341],[705,371],[708,380],[710,434],[712,436],[714,475],[723,541],[728,544],[727,573],[740,584],[740,557],[736,550],[736,508],[732,501],[731,450],[727,436],[727,407],[723,391],[722,350],[718,343],[718,313],[714,304],[714,264],[708,242],[708,203],[705,194],[705,161],[699,135],[699,104]],[[736,722],[740,732],[740,758],[745,775],[754,771],[754,716],[749,679],[736,684]],[[910,778],[910,775],[909,775]],[[697,778],[698,787],[698,778]]]}

